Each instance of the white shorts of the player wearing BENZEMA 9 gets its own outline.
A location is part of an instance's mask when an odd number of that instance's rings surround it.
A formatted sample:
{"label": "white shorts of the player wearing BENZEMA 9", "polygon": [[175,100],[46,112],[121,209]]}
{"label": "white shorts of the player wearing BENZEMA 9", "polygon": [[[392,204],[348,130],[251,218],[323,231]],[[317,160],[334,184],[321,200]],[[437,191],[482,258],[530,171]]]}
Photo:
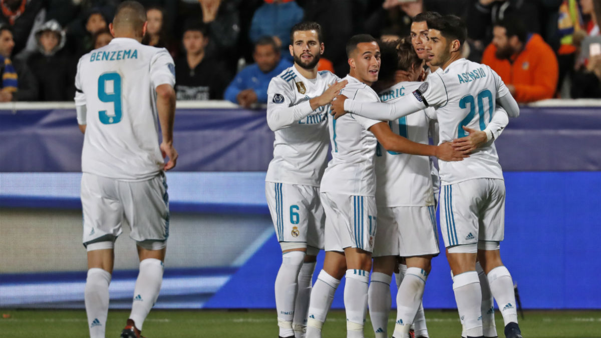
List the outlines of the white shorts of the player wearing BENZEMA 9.
{"label": "white shorts of the player wearing BENZEMA 9", "polygon": [[84,173],[81,177],[84,246],[114,241],[124,220],[137,242],[166,241],[169,195],[165,173],[145,181],[122,181]]}

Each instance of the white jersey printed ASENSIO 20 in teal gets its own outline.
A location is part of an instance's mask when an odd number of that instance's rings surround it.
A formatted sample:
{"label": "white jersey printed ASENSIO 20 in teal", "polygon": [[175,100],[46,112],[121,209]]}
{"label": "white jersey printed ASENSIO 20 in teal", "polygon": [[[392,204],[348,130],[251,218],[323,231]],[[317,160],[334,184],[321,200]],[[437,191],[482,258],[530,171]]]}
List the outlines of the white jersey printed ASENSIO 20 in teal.
{"label": "white jersey printed ASENSIO 20 in teal", "polygon": [[[501,78],[489,66],[460,59],[438,69],[419,87],[427,105],[436,107],[439,144],[468,135],[462,128],[484,130],[496,107],[496,98],[509,94]],[[438,161],[443,185],[469,179],[503,179],[494,143],[475,150],[458,162]]]}

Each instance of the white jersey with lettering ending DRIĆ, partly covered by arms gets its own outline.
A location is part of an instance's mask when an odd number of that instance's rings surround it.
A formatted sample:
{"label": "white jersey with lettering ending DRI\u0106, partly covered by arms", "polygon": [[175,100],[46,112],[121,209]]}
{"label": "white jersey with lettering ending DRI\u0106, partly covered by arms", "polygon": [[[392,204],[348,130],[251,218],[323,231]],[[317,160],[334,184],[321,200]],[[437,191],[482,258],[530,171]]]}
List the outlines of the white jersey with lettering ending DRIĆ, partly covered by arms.
{"label": "white jersey with lettering ending DRI\u0106, partly covered by arms", "polygon": [[[412,95],[422,82],[400,82],[380,92],[380,101],[393,103]],[[434,108],[389,121],[392,132],[416,143],[428,144]],[[409,155],[376,148],[376,204],[378,206],[434,205],[429,156]]]}

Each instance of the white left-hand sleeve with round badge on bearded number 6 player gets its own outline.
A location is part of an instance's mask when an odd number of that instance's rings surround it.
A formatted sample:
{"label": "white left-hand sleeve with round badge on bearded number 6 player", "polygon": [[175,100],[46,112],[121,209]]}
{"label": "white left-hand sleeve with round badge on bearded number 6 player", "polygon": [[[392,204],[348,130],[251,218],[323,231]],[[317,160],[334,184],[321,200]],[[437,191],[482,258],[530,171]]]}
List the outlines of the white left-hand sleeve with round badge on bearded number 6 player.
{"label": "white left-hand sleeve with round badge on bearded number 6 player", "polygon": [[309,100],[294,104],[296,94],[284,79],[273,78],[267,88],[267,125],[272,131],[290,127],[307,117],[313,109]]}

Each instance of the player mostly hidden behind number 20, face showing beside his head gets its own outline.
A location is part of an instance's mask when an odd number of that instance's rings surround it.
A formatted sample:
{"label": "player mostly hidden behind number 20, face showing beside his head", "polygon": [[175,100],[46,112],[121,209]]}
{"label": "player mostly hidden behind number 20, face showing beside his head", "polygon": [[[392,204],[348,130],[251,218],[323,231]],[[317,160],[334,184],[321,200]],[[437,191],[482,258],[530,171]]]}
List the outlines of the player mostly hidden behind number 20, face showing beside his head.
{"label": "player mostly hidden behind number 20, face showing beside his head", "polygon": [[[426,51],[426,43],[428,41],[428,23],[427,21],[435,20],[441,17],[441,14],[434,11],[427,11],[423,13],[417,14],[413,17],[413,22],[411,23],[411,43],[413,45],[413,49],[417,53],[418,57],[424,61],[424,66],[426,67],[426,76],[436,72],[438,66],[433,66],[430,63],[431,55]],[[506,114],[506,113],[504,113]],[[465,141],[465,140],[462,140]],[[462,141],[456,141],[456,144],[460,144]],[[440,188],[440,180],[438,179],[438,170],[432,165],[432,179],[434,182],[434,194],[436,198],[436,205],[438,205],[438,195]],[[402,268],[401,268],[402,269]],[[476,262],[476,271],[478,272],[478,278],[480,278],[480,287],[482,291],[482,304],[481,304],[481,312],[482,312],[482,327],[484,330],[485,337],[495,337],[496,336],[496,325],[495,325],[495,307],[493,304],[492,293],[490,293],[490,287],[486,279],[486,274],[480,265],[480,262]],[[418,316],[423,313],[423,309],[418,311]],[[425,319],[424,319],[425,321]],[[415,324],[421,323],[421,321],[415,322]],[[462,334],[465,337],[465,333]]]}

